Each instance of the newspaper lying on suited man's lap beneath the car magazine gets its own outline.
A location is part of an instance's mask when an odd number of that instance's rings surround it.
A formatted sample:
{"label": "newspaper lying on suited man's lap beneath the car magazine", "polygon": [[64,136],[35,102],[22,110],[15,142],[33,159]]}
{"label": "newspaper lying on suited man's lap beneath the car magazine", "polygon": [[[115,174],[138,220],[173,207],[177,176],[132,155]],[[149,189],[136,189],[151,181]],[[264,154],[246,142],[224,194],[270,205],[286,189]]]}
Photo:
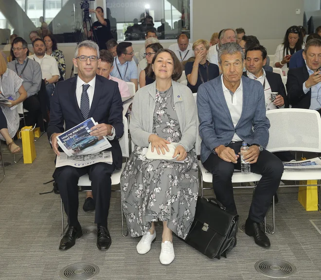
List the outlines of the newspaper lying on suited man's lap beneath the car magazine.
{"label": "newspaper lying on suited man's lap beneath the car magazine", "polygon": [[60,153],[60,156],[57,156],[56,167],[61,166],[74,166],[74,167],[84,167],[97,162],[105,162],[112,164],[112,154],[110,151],[99,152],[92,155],[82,155],[82,156],[67,156],[65,153]]}

